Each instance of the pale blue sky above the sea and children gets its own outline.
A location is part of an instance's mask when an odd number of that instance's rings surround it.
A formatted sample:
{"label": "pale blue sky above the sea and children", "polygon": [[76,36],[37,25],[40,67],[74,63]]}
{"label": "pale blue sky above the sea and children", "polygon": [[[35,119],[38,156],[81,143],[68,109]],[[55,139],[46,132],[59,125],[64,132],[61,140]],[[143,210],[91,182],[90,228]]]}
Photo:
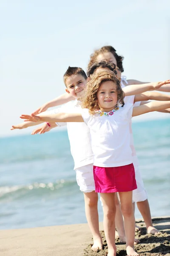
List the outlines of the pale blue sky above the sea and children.
{"label": "pale blue sky above the sea and children", "polygon": [[125,57],[127,78],[169,79],[169,10],[167,0],[1,1],[0,136],[30,132],[10,127],[64,93],[67,67],[86,70],[104,45]]}

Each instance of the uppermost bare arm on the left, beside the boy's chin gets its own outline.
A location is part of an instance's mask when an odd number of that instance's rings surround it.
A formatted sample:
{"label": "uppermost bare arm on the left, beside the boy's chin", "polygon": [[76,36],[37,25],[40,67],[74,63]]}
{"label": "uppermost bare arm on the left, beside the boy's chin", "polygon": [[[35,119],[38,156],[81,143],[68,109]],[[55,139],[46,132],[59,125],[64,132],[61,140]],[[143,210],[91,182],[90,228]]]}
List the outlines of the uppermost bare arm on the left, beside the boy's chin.
{"label": "uppermost bare arm on the left, beside the boy's chin", "polygon": [[64,94],[60,95],[59,97],[52,99],[51,101],[45,103],[40,108],[37,108],[37,110],[34,111],[33,114],[37,115],[41,112],[46,111],[48,108],[62,105],[64,103],[70,102],[71,100],[74,100],[74,98],[72,96],[70,96],[70,94],[64,93]]}

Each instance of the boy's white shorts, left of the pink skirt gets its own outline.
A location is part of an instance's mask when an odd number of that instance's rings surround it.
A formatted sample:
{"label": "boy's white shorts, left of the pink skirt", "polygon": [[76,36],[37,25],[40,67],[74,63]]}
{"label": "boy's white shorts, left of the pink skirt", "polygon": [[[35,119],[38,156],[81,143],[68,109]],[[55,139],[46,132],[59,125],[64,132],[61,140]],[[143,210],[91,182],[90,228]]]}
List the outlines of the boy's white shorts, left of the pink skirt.
{"label": "boy's white shorts, left of the pink skirt", "polygon": [[93,176],[93,163],[75,169],[76,180],[79,189],[82,192],[88,193],[95,191],[94,176]]}

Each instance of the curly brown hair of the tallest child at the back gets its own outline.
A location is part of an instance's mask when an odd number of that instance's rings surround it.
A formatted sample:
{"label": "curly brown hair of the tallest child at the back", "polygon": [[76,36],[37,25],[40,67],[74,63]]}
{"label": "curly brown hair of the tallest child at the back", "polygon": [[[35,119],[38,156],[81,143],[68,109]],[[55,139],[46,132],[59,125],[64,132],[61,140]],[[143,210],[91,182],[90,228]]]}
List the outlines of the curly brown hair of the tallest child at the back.
{"label": "curly brown hair of the tallest child at the back", "polygon": [[114,57],[116,58],[116,61],[117,61],[117,67],[119,67],[119,69],[121,70],[121,72],[124,71],[124,68],[123,68],[123,64],[122,64],[122,61],[124,59],[123,56],[120,56],[116,53],[116,50],[108,45],[108,46],[103,46],[102,48],[98,49],[98,50],[95,50],[94,53],[92,53],[90,55],[90,61],[88,63],[88,70],[90,69],[90,67],[96,62],[96,58],[99,54],[102,54],[103,52],[111,52]]}

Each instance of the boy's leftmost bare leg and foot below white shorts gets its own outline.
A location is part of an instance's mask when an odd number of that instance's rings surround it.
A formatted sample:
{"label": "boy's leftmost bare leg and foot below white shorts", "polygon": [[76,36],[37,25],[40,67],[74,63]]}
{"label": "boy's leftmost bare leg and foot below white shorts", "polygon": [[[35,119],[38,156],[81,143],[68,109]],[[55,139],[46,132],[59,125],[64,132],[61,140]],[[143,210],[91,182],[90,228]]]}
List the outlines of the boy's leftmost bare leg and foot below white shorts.
{"label": "boy's leftmost bare leg and foot below white shorts", "polygon": [[99,233],[99,215],[97,210],[98,194],[93,192],[84,192],[85,198],[85,215],[93,235],[94,244],[91,250],[102,250],[102,237]]}

